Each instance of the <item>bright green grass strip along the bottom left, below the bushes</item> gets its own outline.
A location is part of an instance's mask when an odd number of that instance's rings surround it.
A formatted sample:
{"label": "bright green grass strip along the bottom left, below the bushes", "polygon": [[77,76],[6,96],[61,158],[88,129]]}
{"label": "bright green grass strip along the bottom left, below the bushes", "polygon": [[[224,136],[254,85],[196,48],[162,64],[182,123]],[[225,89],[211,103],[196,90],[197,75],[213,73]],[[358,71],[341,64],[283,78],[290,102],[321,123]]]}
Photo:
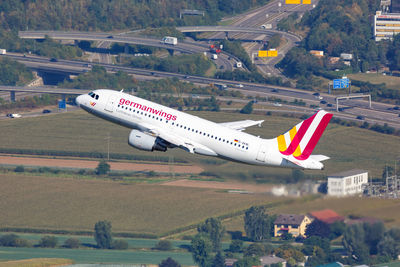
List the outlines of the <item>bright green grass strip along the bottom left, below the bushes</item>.
{"label": "bright green grass strip along the bottom left, below the bushes", "polygon": [[189,252],[0,247],[0,265],[3,264],[2,260],[31,258],[67,258],[78,263],[159,264],[168,257],[182,265],[194,265],[192,254]]}

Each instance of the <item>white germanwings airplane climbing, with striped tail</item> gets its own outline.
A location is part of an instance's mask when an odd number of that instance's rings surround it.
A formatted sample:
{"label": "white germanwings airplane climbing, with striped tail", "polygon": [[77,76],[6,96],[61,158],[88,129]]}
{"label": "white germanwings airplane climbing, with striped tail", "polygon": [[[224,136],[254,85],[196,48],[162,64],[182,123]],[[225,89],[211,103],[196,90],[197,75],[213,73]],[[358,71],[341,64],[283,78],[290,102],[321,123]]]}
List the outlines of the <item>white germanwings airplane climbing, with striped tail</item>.
{"label": "white germanwings airplane climbing, with striped tail", "polygon": [[243,132],[264,120],[215,123],[123,91],[98,89],[76,98],[87,112],[128,127],[129,145],[145,151],[181,148],[251,165],[322,170],[324,155],[311,155],[332,114],[320,110],[273,139]]}

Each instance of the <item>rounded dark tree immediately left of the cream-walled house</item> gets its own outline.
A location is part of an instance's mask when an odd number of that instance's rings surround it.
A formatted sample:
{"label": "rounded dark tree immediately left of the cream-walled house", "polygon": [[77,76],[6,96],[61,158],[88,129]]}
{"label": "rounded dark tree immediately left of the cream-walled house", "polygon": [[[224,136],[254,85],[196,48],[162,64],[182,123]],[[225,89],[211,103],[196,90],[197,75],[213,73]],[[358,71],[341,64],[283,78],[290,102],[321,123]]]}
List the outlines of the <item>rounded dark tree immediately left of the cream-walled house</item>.
{"label": "rounded dark tree immediately left of the cream-walled house", "polygon": [[272,218],[265,213],[264,207],[253,206],[246,210],[244,229],[249,239],[262,241],[271,237]]}

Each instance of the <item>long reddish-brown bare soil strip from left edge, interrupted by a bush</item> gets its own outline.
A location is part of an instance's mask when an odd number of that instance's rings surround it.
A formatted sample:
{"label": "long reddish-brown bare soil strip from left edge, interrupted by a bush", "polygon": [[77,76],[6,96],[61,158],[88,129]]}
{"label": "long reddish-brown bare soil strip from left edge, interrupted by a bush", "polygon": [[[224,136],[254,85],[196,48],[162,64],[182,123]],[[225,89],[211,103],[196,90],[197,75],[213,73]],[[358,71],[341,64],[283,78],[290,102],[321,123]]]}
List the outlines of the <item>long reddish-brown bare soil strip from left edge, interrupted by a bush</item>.
{"label": "long reddish-brown bare soil strip from left edge, interrupted by a bush", "polygon": [[[41,167],[62,167],[76,169],[95,169],[98,161],[75,160],[75,159],[46,159],[34,157],[13,157],[0,156],[0,165],[23,165],[23,166],[41,166]],[[109,162],[111,170],[118,171],[155,171],[175,173],[200,173],[203,169],[199,166],[190,165],[160,165],[160,164],[139,164],[128,162]]]}

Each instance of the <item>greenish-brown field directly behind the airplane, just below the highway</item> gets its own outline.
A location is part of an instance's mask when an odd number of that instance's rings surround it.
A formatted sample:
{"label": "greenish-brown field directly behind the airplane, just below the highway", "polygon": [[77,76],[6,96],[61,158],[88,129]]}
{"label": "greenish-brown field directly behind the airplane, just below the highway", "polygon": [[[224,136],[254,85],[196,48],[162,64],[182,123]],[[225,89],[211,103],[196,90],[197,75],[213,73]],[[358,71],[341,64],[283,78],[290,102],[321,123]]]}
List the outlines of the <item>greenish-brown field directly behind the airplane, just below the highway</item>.
{"label": "greenish-brown field directly behind the airplane, just below the highway", "polygon": [[[195,115],[216,122],[244,119],[264,119],[261,128],[251,127],[249,133],[264,138],[273,138],[287,131],[300,120],[278,116],[243,115],[225,112],[195,112]],[[226,162],[210,157],[189,155],[180,149],[164,152],[145,152],[130,147],[127,138],[130,130],[87,114],[74,111],[35,118],[21,118],[0,121],[2,134],[0,148],[37,150],[82,151],[107,153],[107,137],[110,136],[110,153],[169,157],[202,165],[206,171],[224,179],[238,178],[238,174],[262,174],[262,177],[290,175],[291,170],[248,166]],[[393,159],[400,151],[400,137],[376,133],[357,127],[329,124],[316,146],[315,154],[331,157],[325,162],[324,171],[307,172],[327,175],[343,170],[366,169],[373,177],[381,177],[385,164],[394,164]],[[216,162],[222,163],[215,164]],[[266,178],[266,182],[268,179]]]}

